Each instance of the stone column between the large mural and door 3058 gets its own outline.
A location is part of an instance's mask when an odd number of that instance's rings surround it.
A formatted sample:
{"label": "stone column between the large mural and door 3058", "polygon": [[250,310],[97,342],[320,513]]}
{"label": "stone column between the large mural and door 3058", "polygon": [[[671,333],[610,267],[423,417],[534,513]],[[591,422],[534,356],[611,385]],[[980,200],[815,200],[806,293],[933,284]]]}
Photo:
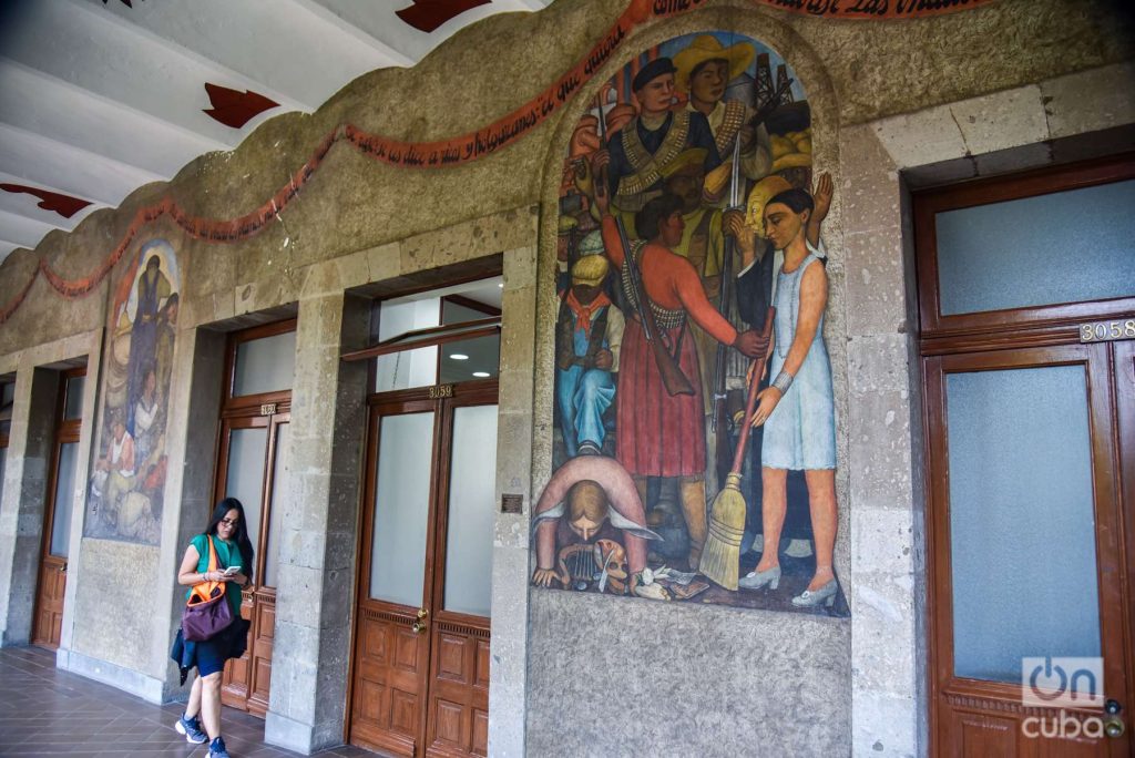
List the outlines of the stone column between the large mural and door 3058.
{"label": "stone column between the large mural and door 3058", "polygon": [[919,752],[925,570],[914,269],[898,168],[869,127],[844,128],[851,527],[852,752]]}

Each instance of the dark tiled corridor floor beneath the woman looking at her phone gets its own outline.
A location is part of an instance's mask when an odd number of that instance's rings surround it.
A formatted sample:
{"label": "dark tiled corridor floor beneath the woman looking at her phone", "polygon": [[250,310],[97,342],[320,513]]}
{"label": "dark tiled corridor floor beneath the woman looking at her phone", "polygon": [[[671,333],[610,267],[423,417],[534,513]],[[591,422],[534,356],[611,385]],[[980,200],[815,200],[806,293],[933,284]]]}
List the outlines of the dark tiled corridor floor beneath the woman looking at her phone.
{"label": "dark tiled corridor floor beneath the woman looking at her phone", "polygon": [[[0,756],[193,756],[174,731],[182,706],[154,706],[106,684],[56,668],[40,648],[0,649]],[[264,723],[225,708],[225,742],[234,758],[297,753],[264,744]],[[373,758],[359,748],[335,748],[319,756]]]}

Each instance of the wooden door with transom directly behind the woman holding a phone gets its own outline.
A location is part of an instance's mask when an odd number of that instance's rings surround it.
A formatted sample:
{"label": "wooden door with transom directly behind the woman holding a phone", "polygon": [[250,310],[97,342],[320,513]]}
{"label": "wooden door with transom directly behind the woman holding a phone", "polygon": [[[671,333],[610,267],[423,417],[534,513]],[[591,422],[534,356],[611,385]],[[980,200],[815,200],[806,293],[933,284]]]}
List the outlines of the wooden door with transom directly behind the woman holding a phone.
{"label": "wooden door with transom directly behind the woman holding a phone", "polygon": [[[221,702],[261,717],[268,713],[276,632],[280,508],[275,505],[277,495],[286,487],[288,423],[292,420],[292,391],[279,386],[291,386],[292,370],[289,365],[275,367],[280,369],[276,384],[250,380],[250,364],[258,363],[255,356],[245,355],[242,348],[261,351],[261,356],[286,355],[294,330],[295,321],[289,320],[246,329],[229,339],[213,498],[215,502],[224,497],[241,500],[249,539],[255,551],[252,581],[245,587],[241,604],[241,616],[249,622],[247,649],[225,666]],[[260,365],[263,368],[262,363]],[[244,393],[245,387],[263,391]]]}

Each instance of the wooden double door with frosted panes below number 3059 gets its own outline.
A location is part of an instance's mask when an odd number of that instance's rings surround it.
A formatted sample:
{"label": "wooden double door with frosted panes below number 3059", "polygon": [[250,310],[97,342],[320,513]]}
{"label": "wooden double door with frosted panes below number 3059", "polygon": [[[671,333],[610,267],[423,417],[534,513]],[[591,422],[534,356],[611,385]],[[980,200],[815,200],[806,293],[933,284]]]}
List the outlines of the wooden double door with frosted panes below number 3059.
{"label": "wooden double door with frosted panes below number 3059", "polygon": [[[401,756],[487,755],[487,575],[477,581],[487,566],[464,548],[491,555],[491,530],[478,527],[491,522],[484,485],[491,492],[496,402],[495,380],[372,398],[352,743]],[[470,494],[474,478],[482,490]]]}

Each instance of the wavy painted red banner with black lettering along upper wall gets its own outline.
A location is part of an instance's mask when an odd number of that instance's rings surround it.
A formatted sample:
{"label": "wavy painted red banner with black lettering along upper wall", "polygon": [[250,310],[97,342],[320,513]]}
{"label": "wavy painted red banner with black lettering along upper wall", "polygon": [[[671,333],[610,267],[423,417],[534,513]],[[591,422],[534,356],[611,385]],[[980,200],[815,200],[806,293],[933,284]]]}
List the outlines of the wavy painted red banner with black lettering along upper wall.
{"label": "wavy painted red banner with black lettering along upper wall", "polygon": [[[997,0],[751,0],[770,8],[833,19],[900,19],[949,14],[989,5]],[[411,169],[460,166],[490,155],[513,144],[566,104],[596,73],[620,52],[630,33],[650,20],[670,18],[704,6],[706,0],[631,0],[611,30],[586,56],[562,74],[543,93],[493,124],[471,134],[434,142],[403,142],[370,134],[353,124],[344,124],[325,136],[303,166],[260,208],[233,219],[207,219],[188,214],[170,199],[138,209],[126,234],[98,270],[79,279],[65,279],[45,259],[32,272],[27,284],[0,308],[0,325],[20,306],[35,278],[44,279],[67,298],[82,297],[94,289],[121,259],[146,224],[168,214],[195,239],[234,243],[246,239],[274,220],[300,193],[337,142],[347,142],[375,160]]]}

